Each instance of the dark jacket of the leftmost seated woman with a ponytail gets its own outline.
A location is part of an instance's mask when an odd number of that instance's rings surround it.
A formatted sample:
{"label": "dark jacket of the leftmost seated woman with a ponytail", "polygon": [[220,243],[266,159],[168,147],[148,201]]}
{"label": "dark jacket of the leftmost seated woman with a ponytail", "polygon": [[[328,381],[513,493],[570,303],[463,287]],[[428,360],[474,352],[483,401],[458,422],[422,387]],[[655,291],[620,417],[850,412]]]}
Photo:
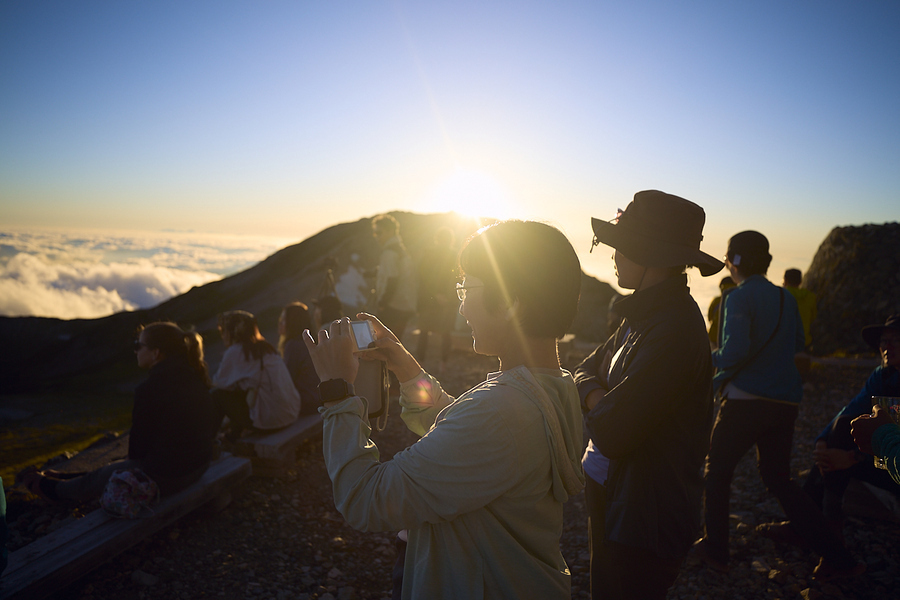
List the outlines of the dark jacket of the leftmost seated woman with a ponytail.
{"label": "dark jacket of the leftmost seated woman with a ponytail", "polygon": [[157,480],[182,477],[209,464],[217,423],[209,389],[186,362],[153,365],[134,391],[128,458]]}

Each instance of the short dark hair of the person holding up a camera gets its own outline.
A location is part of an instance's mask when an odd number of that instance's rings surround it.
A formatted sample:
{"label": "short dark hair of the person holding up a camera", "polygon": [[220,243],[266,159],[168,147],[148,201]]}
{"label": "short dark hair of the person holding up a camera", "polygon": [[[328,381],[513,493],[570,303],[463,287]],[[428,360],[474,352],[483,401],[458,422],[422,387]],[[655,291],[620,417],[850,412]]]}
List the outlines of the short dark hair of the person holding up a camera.
{"label": "short dark hair of the person holding up a camera", "polygon": [[551,225],[511,220],[484,227],[466,241],[459,266],[484,282],[489,311],[519,301],[522,331],[529,337],[560,338],[575,319],[581,263]]}

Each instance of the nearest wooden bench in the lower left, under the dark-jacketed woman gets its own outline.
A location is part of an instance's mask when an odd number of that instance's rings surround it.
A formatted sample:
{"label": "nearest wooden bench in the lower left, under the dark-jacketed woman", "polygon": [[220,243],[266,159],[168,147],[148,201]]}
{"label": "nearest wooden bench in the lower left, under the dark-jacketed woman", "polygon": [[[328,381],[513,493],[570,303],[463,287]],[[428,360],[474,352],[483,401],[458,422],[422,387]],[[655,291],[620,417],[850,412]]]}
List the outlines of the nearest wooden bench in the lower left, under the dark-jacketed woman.
{"label": "nearest wooden bench in the lower left, under the dark-jacketed woman", "polygon": [[117,519],[97,509],[35,540],[9,555],[0,597],[46,598],[194,509],[221,500],[251,468],[249,459],[224,454],[197,483],[163,498],[150,516]]}

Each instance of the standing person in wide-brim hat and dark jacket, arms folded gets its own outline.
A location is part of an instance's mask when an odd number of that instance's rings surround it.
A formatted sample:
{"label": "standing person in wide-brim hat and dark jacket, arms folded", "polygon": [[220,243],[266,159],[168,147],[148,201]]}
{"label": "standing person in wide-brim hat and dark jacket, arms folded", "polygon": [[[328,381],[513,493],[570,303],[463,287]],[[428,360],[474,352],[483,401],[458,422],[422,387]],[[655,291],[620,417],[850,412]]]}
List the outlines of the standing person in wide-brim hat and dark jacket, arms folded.
{"label": "standing person in wide-brim hat and dark jacket, arms folded", "polygon": [[[575,371],[591,442],[582,465],[594,598],[665,598],[700,528],[700,472],[712,426],[712,362],[685,268],[723,263],[700,250],[706,215],[684,198],[638,192],[615,219],[592,219],[615,249],[618,331]],[[609,477],[607,477],[609,475]]]}

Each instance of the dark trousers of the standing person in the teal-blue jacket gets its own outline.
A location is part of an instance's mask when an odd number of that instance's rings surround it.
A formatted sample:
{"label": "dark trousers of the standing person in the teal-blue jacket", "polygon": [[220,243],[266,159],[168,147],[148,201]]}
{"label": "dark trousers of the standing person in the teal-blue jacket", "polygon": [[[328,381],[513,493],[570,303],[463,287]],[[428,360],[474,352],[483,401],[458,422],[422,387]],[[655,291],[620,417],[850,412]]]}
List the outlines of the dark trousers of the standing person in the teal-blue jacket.
{"label": "dark trousers of the standing person in the teal-blue jacket", "polygon": [[770,400],[725,399],[713,427],[706,459],[704,517],[713,557],[728,562],[728,503],[731,478],[744,454],[756,445],[757,467],[766,488],[781,504],[794,529],[813,550],[836,566],[854,564],[825,515],[791,479],[791,447],[797,406]]}

